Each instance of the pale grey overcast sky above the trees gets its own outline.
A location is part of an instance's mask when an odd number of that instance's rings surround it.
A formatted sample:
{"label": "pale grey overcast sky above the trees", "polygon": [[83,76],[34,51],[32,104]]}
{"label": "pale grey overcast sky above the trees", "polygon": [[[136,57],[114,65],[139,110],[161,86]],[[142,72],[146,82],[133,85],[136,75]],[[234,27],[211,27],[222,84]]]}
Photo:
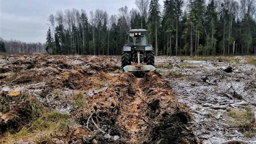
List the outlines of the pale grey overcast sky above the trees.
{"label": "pale grey overcast sky above the trees", "polygon": [[[0,0],[0,37],[22,42],[46,40],[50,14],[65,9],[84,9],[87,14],[96,9],[106,10],[109,15],[118,14],[118,8],[127,5],[136,8],[135,0]],[[163,0],[159,0],[163,5]]]}

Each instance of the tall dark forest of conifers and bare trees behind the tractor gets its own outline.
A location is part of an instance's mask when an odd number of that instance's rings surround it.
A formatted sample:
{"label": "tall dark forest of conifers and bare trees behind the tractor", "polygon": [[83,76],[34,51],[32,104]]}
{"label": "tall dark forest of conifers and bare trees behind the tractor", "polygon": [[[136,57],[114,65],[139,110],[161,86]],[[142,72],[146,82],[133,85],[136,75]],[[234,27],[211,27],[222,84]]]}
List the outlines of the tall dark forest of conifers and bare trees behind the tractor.
{"label": "tall dark forest of conifers and bare trees behind the tractor", "polygon": [[117,55],[130,29],[147,29],[156,55],[229,55],[256,53],[255,0],[136,0],[109,16],[97,9],[67,9],[51,14],[47,52]]}

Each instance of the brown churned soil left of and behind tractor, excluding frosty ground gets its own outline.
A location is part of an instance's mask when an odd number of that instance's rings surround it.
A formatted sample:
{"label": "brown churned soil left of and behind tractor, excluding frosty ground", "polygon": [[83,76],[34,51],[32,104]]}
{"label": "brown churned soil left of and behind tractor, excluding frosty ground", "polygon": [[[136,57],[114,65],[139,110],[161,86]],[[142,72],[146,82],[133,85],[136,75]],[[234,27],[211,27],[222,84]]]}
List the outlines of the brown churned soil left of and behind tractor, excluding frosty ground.
{"label": "brown churned soil left of and behind tractor, excluding frosty ground", "polygon": [[1,55],[1,143],[201,143],[172,83],[120,69],[119,56]]}

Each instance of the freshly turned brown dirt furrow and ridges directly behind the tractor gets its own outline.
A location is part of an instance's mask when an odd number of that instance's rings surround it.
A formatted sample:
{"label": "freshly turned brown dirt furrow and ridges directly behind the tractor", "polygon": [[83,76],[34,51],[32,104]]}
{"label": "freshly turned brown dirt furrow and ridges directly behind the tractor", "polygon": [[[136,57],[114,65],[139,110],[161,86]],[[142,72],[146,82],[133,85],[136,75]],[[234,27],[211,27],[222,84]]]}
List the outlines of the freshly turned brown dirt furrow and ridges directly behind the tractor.
{"label": "freshly turned brown dirt furrow and ridges directly behind the tractor", "polygon": [[[92,117],[99,128],[118,135],[125,143],[197,143],[186,127],[192,116],[173,93],[156,74],[135,78],[122,73],[112,79],[106,91],[87,97],[88,107],[81,121],[87,122],[94,112]],[[89,122],[92,131],[100,131]]]}

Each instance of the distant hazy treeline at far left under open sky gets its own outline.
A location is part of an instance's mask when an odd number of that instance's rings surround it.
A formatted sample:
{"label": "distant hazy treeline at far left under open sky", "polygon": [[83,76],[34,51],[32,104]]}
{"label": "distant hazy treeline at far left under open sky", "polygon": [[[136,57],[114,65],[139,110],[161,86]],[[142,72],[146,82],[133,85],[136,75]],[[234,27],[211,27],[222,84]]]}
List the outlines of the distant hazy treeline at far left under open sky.
{"label": "distant hazy treeline at far left under open sky", "polygon": [[46,45],[42,43],[25,43],[17,40],[0,42],[0,52],[7,53],[44,53]]}

